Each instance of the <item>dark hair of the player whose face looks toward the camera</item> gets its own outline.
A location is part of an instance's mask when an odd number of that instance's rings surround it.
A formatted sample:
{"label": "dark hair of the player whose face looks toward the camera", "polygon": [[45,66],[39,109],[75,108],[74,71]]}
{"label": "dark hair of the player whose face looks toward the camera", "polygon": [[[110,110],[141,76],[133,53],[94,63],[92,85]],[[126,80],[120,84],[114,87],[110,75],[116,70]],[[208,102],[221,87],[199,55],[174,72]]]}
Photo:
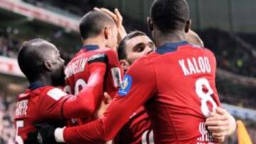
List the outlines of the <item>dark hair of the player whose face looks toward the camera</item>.
{"label": "dark hair of the player whose face looks toward the camera", "polygon": [[121,42],[119,43],[118,48],[117,48],[119,60],[127,59],[127,53],[126,53],[126,49],[125,49],[127,40],[130,40],[137,36],[143,36],[143,35],[146,35],[146,33],[143,33],[142,31],[132,31],[131,33],[128,33],[124,37],[124,39],[121,40]]}

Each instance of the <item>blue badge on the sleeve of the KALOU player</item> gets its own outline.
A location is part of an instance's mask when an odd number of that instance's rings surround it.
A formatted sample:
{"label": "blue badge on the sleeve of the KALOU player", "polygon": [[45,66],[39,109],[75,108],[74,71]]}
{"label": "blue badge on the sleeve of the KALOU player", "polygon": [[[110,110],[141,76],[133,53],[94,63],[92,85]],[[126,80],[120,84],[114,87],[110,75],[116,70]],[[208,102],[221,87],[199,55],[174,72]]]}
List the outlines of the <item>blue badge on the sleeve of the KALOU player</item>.
{"label": "blue badge on the sleeve of the KALOU player", "polygon": [[118,91],[119,96],[127,95],[131,87],[132,87],[132,77],[129,74],[126,74],[124,76],[124,80],[122,81],[121,87],[119,88],[119,91]]}

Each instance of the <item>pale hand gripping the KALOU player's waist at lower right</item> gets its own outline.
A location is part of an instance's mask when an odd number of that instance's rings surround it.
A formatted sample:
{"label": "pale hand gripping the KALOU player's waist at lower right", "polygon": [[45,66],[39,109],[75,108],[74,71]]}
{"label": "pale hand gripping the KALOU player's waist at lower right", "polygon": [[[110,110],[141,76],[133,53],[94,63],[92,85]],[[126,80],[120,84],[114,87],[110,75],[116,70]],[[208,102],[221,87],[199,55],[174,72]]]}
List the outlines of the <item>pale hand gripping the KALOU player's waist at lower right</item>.
{"label": "pale hand gripping the KALOU player's waist at lower right", "polygon": [[236,129],[235,118],[225,109],[218,107],[216,113],[210,113],[206,119],[206,127],[218,141],[224,140],[225,136],[232,135]]}

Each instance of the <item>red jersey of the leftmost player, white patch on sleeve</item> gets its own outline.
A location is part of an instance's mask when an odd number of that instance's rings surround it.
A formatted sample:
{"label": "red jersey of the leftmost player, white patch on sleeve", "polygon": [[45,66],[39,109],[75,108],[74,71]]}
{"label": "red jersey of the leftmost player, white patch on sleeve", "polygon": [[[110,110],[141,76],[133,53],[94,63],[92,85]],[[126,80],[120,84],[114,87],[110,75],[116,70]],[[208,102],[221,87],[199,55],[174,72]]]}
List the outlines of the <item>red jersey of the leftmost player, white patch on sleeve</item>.
{"label": "red jersey of the leftmost player, white patch on sleeve", "polygon": [[26,141],[27,134],[36,131],[36,123],[47,122],[55,126],[64,126],[65,118],[90,115],[90,101],[86,99],[92,101],[94,94],[97,94],[97,91],[92,87],[87,87],[78,96],[74,96],[56,87],[40,83],[31,84],[26,92],[18,96],[14,118],[16,143]]}

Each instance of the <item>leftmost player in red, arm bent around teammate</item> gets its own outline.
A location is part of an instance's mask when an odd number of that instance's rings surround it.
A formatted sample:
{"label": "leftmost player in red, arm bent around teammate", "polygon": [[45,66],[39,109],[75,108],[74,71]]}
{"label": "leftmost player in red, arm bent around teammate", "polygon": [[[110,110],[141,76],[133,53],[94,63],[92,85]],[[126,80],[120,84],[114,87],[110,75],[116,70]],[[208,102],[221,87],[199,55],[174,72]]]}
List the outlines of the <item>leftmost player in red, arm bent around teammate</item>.
{"label": "leftmost player in red, arm bent around teammate", "polygon": [[31,143],[27,134],[36,130],[36,123],[63,126],[67,118],[95,112],[91,103],[99,93],[95,87],[101,84],[99,77],[105,70],[92,70],[87,87],[74,96],[58,88],[64,84],[64,60],[52,43],[42,39],[23,43],[18,52],[18,65],[30,86],[18,96],[16,104],[16,143]]}

